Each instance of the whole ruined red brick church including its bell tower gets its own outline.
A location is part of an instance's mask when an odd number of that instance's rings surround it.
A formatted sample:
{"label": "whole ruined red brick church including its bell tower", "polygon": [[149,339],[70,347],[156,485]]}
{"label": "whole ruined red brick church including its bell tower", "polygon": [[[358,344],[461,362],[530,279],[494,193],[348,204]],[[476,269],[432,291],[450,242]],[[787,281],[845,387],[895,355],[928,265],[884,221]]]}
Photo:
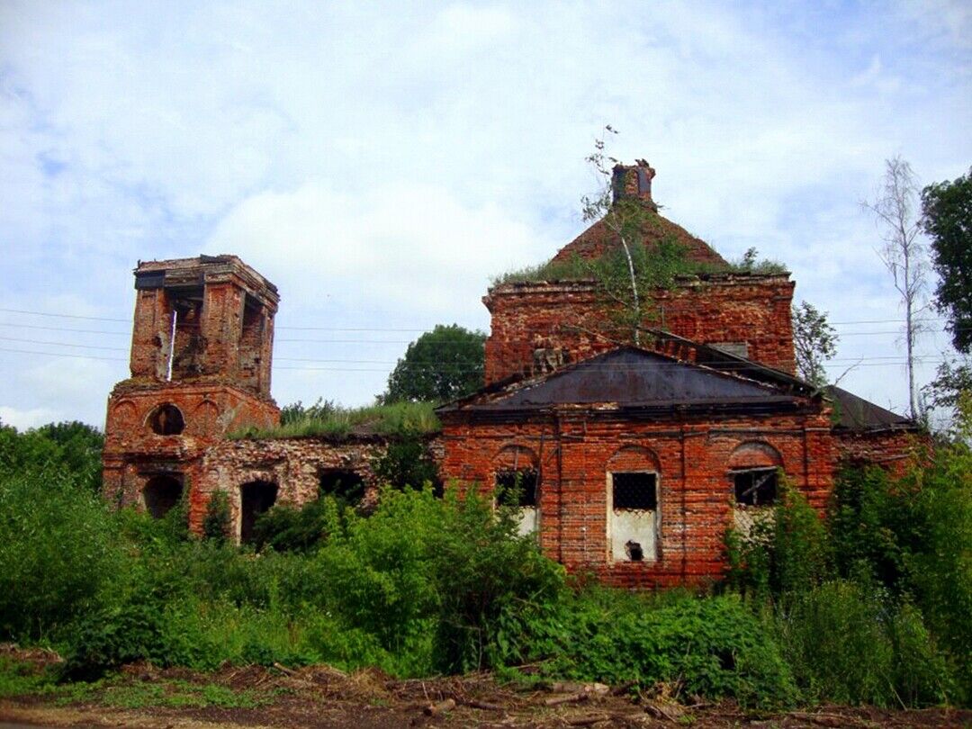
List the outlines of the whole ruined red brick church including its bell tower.
{"label": "whole ruined red brick church including its bell tower", "polygon": [[[484,387],[441,406],[428,440],[449,488],[508,490],[544,553],[631,586],[717,577],[725,529],[773,503],[781,473],[822,510],[842,464],[896,468],[920,433],[797,377],[789,274],[732,272],[658,215],[653,177],[643,162],[618,165],[614,197],[650,211],[649,254],[676,241],[700,273],[651,292],[639,346],[604,334],[611,311],[595,280],[496,285],[483,298]],[[602,221],[554,260],[617,246]],[[246,540],[273,503],[307,503],[341,479],[373,498],[386,437],[227,438],[279,422],[271,283],[234,256],[200,256],[140,262],[135,289],[131,377],[108,401],[109,499],[161,516],[185,497],[198,531],[222,491]]]}

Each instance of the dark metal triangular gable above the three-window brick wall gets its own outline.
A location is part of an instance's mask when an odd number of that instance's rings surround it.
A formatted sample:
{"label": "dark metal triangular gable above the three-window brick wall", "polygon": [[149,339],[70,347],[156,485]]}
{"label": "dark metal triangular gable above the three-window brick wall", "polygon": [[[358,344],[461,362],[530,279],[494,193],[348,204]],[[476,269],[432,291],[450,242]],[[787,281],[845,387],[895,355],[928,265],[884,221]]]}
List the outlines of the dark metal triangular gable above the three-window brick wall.
{"label": "dark metal triangular gable above the three-window brick wall", "polygon": [[589,407],[599,412],[775,411],[807,401],[792,389],[636,347],[620,347],[553,373],[486,388],[439,409],[479,413]]}

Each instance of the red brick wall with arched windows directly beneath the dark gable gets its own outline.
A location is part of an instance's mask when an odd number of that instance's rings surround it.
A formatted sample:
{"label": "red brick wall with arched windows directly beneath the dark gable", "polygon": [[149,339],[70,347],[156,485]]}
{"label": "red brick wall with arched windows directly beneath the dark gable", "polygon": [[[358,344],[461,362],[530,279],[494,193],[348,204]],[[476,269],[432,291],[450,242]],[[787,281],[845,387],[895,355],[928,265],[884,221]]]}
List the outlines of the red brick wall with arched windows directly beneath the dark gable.
{"label": "red brick wall with arched windows directly beneath the dark gable", "polygon": [[[545,422],[444,424],[443,478],[489,490],[508,468],[511,446],[536,456],[540,469],[539,541],[573,572],[608,583],[672,585],[717,578],[733,516],[730,464],[763,466],[749,453],[775,452],[782,469],[818,510],[833,487],[835,450],[825,415],[740,417],[719,422],[632,422],[546,416]],[[746,447],[759,443],[760,448]],[[612,562],[608,550],[608,468],[626,446],[650,451],[659,467],[660,533],[656,562]],[[734,457],[735,454],[735,457]],[[753,463],[743,463],[753,458]],[[611,463],[611,459],[615,459]],[[608,464],[611,466],[608,467]]]}

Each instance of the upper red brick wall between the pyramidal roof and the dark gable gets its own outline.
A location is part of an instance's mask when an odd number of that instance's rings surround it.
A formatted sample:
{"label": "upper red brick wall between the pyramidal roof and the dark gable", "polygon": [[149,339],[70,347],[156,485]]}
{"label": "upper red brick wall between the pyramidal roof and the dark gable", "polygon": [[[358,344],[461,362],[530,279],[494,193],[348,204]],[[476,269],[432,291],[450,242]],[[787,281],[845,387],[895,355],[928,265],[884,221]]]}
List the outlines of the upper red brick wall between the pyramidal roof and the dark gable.
{"label": "upper red brick wall between the pyramidal roof and the dark gable", "polygon": [[[749,359],[793,373],[793,287],[786,276],[683,284],[655,292],[645,325],[703,344],[746,342]],[[610,306],[592,284],[505,284],[491,289],[483,302],[492,314],[487,384],[531,371],[538,350],[559,350],[564,362],[578,362],[631,343],[630,334],[610,322]]]}

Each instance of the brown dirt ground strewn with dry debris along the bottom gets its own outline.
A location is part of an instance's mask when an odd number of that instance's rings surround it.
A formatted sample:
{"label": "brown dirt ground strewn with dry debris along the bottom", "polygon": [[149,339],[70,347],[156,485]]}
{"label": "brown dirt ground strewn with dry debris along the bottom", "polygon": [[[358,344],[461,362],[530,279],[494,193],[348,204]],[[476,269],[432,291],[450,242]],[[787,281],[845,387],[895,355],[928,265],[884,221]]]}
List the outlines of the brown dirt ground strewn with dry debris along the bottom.
{"label": "brown dirt ground strewn with dry debris along the bottom", "polygon": [[[224,706],[179,705],[180,697],[201,696],[207,689],[224,697]],[[327,666],[226,667],[216,674],[194,674],[136,664],[83,698],[55,693],[2,700],[0,722],[139,729],[972,726],[969,711],[820,707],[763,715],[729,703],[685,706],[666,693],[660,687],[649,697],[624,687],[568,682],[517,689],[489,675],[398,680],[377,671],[345,674]],[[121,696],[125,702],[118,701]],[[242,699],[227,702],[227,696]],[[229,706],[234,702],[244,706]]]}

